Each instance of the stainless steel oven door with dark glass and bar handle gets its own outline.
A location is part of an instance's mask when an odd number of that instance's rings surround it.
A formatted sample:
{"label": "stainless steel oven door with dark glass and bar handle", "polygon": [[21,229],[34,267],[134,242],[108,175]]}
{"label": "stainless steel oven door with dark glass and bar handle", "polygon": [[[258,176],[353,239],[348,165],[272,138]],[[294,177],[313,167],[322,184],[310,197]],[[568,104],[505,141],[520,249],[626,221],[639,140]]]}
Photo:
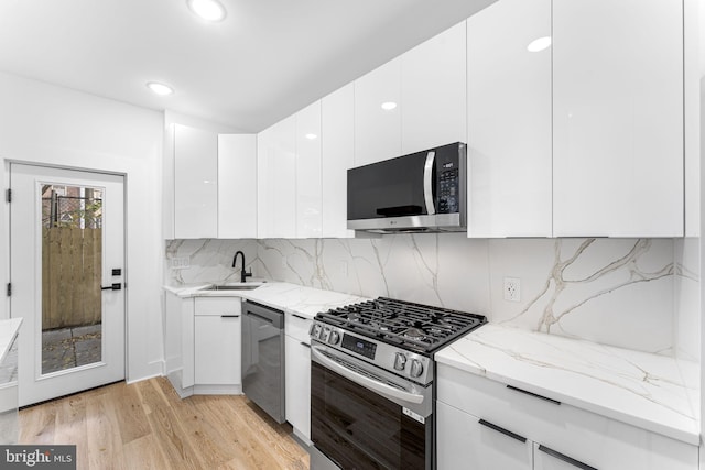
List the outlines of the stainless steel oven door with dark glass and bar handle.
{"label": "stainless steel oven door with dark glass and bar handle", "polygon": [[311,437],[319,452],[343,469],[431,468],[431,385],[315,341],[311,351]]}

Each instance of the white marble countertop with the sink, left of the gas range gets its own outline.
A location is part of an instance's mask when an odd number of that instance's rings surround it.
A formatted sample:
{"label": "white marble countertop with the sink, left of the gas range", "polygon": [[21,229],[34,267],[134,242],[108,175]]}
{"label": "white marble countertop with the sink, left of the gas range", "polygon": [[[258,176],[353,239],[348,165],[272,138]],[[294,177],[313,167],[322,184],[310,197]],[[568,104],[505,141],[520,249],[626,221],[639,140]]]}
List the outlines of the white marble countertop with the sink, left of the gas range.
{"label": "white marble countertop with the sink, left of the gas range", "polygon": [[[248,283],[250,284],[250,283]],[[256,284],[252,282],[251,284]],[[350,294],[343,294],[333,291],[304,287],[296,284],[264,282],[252,291],[207,291],[203,288],[212,284],[197,284],[183,287],[164,286],[165,291],[172,292],[180,297],[224,297],[236,296],[248,300],[258,302],[269,307],[279,308],[290,314],[313,318],[318,311],[326,311],[330,308],[368,300]]]}

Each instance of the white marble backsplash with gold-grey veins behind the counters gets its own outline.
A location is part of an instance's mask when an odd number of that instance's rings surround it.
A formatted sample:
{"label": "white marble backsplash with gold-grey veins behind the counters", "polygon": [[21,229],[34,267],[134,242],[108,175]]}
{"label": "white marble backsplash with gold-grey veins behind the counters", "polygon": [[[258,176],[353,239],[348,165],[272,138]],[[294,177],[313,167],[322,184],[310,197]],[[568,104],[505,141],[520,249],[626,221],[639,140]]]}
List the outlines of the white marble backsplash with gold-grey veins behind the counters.
{"label": "white marble backsplash with gold-grey veins behind the counters", "polygon": [[[648,352],[699,358],[699,262],[693,239],[174,240],[171,285],[237,281],[242,250],[258,277],[487,315],[490,321]],[[188,258],[189,269],[171,269]],[[520,300],[503,298],[505,277]]]}

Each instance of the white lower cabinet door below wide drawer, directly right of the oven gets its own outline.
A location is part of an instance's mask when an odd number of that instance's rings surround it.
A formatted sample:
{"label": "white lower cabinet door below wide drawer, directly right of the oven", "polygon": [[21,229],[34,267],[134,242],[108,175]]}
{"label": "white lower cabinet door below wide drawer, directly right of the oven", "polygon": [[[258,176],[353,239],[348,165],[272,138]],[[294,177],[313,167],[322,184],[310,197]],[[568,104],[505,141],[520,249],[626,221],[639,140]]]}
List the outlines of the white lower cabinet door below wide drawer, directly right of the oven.
{"label": "white lower cabinet door below wide drawer, directly right of the oven", "polygon": [[[436,402],[438,470],[530,470],[532,442],[481,425],[479,418]],[[506,431],[506,429],[503,429]]]}

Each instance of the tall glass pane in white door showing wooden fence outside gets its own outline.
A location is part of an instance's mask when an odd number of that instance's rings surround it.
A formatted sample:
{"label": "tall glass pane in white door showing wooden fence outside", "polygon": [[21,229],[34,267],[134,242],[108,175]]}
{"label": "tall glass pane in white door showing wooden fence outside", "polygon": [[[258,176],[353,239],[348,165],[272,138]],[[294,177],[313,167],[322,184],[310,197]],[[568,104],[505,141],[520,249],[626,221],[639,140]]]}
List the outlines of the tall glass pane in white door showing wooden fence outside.
{"label": "tall glass pane in white door showing wooden fence outside", "polygon": [[42,373],[100,362],[101,188],[43,185]]}

